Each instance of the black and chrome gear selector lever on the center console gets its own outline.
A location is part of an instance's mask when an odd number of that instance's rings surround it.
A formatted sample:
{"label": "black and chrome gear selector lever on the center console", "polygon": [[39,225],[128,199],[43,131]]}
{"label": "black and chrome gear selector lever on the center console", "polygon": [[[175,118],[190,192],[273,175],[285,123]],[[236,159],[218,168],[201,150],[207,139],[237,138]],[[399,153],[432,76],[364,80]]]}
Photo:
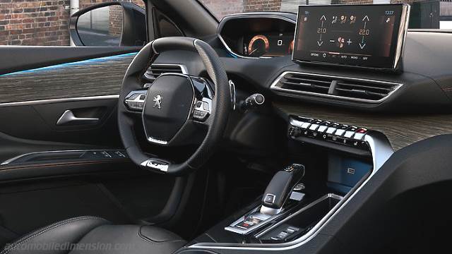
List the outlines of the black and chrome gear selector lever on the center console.
{"label": "black and chrome gear selector lever on the center console", "polygon": [[263,193],[261,213],[278,214],[292,189],[304,176],[304,166],[302,164],[291,164],[285,169],[278,171],[273,176]]}

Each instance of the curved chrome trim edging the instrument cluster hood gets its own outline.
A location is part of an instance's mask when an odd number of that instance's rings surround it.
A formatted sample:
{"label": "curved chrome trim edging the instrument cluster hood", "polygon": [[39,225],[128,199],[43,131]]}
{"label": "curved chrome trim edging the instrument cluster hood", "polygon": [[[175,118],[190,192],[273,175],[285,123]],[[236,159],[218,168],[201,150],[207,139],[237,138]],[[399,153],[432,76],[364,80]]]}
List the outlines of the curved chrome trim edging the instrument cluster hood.
{"label": "curved chrome trim edging the instrument cluster hood", "polygon": [[[226,16],[225,18],[223,18],[221,20],[220,25],[218,25],[217,36],[220,39],[223,46],[225,46],[227,52],[229,52],[230,54],[232,54],[235,57],[242,58],[242,59],[270,59],[270,58],[273,58],[273,56],[260,56],[260,57],[242,56],[237,53],[234,53],[232,51],[232,49],[229,46],[227,46],[225,40],[223,40],[223,37],[221,36],[221,30],[227,21],[234,20],[234,19],[240,19],[240,18],[244,18],[244,19],[246,19],[246,18],[275,18],[275,19],[285,20],[287,22],[294,23],[295,31],[297,31],[296,30],[297,29],[297,20],[292,20],[285,16],[268,15],[268,13],[235,13],[230,16]],[[295,32],[294,32],[294,38],[295,38]]]}

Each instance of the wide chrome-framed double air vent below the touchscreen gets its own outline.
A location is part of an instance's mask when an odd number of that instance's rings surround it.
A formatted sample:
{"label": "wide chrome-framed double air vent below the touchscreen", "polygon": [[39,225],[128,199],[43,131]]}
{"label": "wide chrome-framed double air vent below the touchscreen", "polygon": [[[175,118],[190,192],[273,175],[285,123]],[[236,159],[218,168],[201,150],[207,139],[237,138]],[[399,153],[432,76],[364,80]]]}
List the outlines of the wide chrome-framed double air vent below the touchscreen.
{"label": "wide chrome-framed double air vent below the touchscreen", "polygon": [[377,103],[386,99],[401,85],[381,80],[285,72],[270,88],[284,95],[314,95]]}

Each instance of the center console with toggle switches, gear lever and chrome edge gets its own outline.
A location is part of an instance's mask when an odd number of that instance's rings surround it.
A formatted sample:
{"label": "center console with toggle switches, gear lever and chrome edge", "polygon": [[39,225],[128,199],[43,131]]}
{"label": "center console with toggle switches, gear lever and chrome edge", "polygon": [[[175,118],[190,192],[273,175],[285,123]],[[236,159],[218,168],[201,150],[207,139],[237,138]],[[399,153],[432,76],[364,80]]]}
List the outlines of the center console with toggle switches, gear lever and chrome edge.
{"label": "center console with toggle switches, gear lever and chrome edge", "polygon": [[289,116],[287,122],[290,150],[315,159],[292,155],[293,163],[275,173],[261,197],[189,248],[262,248],[309,241],[393,153],[383,134],[365,126],[304,116]]}

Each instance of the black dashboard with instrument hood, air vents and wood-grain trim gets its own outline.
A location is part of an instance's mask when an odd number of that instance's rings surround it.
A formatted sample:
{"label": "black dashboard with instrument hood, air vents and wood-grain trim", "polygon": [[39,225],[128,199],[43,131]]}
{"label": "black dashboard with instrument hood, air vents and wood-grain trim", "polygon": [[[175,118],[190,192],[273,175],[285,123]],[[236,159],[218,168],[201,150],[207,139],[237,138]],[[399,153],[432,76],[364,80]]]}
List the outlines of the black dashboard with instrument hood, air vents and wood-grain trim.
{"label": "black dashboard with instrument hood, air vents and wood-grain trim", "polygon": [[[282,43],[284,55],[275,57],[279,54],[272,53],[271,44],[278,46],[281,33],[287,38],[295,34],[296,23],[295,13],[244,13],[220,22],[218,35],[209,44],[220,55],[237,94],[260,92],[282,115],[379,131],[395,150],[452,132],[448,124],[452,119],[451,32],[408,30],[401,68],[394,72],[295,62],[288,40]],[[270,53],[266,40],[256,38],[251,49],[265,52],[244,54],[258,35],[267,37]],[[165,52],[156,63],[184,64],[189,73],[202,75],[202,65],[189,60],[196,57],[190,52]]]}

